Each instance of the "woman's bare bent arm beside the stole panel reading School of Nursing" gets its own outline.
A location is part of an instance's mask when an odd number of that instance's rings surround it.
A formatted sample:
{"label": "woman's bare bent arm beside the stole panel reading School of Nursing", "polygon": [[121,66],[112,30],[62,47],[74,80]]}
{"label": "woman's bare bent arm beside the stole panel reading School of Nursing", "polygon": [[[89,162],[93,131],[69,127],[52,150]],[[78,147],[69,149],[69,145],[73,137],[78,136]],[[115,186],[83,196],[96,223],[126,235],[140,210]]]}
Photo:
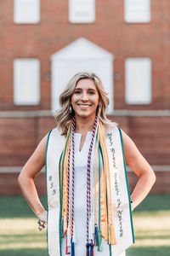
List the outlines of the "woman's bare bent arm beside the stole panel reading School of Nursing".
{"label": "woman's bare bent arm beside the stole panel reading School of Nursing", "polygon": [[151,187],[156,182],[156,175],[149,163],[144,159],[142,154],[140,154],[131,138],[128,137],[124,131],[122,131],[122,140],[126,163],[139,177],[139,181],[131,195],[131,201],[133,201],[132,209],[134,209],[150,192]]}

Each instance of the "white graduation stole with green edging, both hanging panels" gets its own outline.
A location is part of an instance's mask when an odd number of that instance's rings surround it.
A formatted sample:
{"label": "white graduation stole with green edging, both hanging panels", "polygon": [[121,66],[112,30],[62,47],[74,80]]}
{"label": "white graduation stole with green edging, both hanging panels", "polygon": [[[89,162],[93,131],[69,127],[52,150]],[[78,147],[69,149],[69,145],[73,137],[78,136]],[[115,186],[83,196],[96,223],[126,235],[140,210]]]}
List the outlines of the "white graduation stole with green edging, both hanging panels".
{"label": "white graduation stole with green edging, both hanging panels", "polygon": [[[111,245],[110,256],[118,256],[134,242],[130,195],[122,148],[122,133],[117,127],[106,135],[110,162],[111,200],[116,245]],[[46,148],[46,178],[48,196],[48,254],[61,256],[61,234],[59,234],[59,158],[65,145],[65,137],[58,128],[48,134]],[[109,246],[109,245],[108,245]],[[101,253],[102,254],[102,253]],[[76,255],[79,256],[79,255]],[[109,256],[109,254],[108,254]]]}

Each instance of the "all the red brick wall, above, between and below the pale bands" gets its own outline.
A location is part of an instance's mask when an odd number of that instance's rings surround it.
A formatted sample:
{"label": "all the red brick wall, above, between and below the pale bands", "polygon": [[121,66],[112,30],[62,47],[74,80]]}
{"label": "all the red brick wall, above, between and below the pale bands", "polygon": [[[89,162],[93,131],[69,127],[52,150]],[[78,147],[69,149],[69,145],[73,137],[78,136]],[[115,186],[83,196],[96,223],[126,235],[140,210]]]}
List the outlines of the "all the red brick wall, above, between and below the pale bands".
{"label": "all the red brick wall, above, between and below the pale bands", "polygon": [[[13,111],[48,110],[51,108],[50,56],[77,38],[87,38],[115,56],[114,81],[116,110],[168,110],[170,108],[170,1],[151,0],[151,21],[127,24],[123,0],[96,1],[94,24],[71,24],[68,1],[41,1],[41,20],[36,25],[14,24],[14,1],[0,3],[0,111],[11,111],[0,117],[0,167],[23,166],[37,143],[55,126],[49,116],[13,116]],[[149,57],[152,62],[152,102],[149,105],[127,105],[125,102],[124,62],[128,57]],[[41,67],[41,101],[37,106],[14,106],[13,61],[15,58],[38,58]],[[170,115],[113,116],[120,127],[132,137],[150,165],[170,165]],[[168,172],[156,172],[153,193],[169,192]],[[18,174],[0,174],[0,194],[19,193]],[[43,175],[42,175],[43,176]],[[130,187],[134,179],[129,173]],[[42,178],[42,177],[40,177]],[[131,185],[132,183],[132,185]],[[40,190],[43,191],[43,185]]]}

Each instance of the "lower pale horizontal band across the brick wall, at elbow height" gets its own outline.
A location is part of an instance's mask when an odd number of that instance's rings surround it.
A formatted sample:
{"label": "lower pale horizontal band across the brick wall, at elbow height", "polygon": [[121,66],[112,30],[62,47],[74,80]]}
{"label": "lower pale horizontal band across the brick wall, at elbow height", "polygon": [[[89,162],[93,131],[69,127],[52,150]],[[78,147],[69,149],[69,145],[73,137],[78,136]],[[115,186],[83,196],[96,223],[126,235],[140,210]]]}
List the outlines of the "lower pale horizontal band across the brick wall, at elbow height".
{"label": "lower pale horizontal band across the brick wall, at elbow height", "polygon": [[[170,172],[170,166],[151,166],[154,172]],[[20,173],[23,166],[0,166],[0,173]],[[41,172],[45,172],[45,167]],[[132,169],[127,166],[127,172],[133,172]]]}

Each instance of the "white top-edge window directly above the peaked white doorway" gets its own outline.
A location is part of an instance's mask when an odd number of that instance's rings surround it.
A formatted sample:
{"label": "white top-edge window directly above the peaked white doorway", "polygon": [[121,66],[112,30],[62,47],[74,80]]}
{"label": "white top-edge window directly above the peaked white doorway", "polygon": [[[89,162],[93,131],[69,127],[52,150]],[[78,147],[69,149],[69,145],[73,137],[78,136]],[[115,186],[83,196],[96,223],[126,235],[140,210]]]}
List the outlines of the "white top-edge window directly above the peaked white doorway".
{"label": "white top-edge window directly above the peaked white doorway", "polygon": [[71,23],[92,23],[95,20],[95,0],[69,0]]}

